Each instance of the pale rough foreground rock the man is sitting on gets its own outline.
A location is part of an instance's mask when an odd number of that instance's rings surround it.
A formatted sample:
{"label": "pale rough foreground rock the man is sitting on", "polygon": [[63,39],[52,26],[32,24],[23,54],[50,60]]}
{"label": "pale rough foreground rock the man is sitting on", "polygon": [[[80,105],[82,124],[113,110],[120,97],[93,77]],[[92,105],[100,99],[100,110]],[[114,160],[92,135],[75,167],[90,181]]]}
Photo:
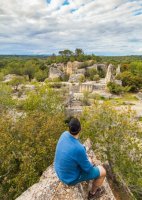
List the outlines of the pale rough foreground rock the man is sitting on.
{"label": "pale rough foreground rock the man is sitting on", "polygon": [[[85,142],[88,155],[96,164],[100,164],[91,149],[91,141]],[[107,180],[104,181],[105,193],[98,200],[115,200]],[[87,200],[90,182],[82,182],[76,186],[67,186],[59,181],[53,166],[47,168],[39,182],[30,187],[16,200]]]}

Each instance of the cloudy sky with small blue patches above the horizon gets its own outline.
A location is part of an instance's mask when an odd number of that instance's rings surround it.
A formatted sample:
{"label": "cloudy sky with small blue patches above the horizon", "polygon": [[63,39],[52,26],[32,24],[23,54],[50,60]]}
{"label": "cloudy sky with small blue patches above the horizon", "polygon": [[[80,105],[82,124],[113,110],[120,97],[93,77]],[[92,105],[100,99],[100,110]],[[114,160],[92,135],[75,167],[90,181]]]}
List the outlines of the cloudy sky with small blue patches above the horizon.
{"label": "cloudy sky with small blue patches above the horizon", "polygon": [[0,0],[0,54],[142,55],[142,0]]}

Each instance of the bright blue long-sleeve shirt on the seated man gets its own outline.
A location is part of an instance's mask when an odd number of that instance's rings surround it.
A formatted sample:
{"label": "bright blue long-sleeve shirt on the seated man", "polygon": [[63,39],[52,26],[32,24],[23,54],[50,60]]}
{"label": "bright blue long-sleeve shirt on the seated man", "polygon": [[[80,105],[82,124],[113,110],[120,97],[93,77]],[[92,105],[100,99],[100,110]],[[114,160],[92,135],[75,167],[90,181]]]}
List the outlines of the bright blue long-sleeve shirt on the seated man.
{"label": "bright blue long-sleeve shirt on the seated man", "polygon": [[69,184],[79,178],[81,170],[89,172],[92,167],[86,150],[79,140],[68,131],[62,133],[54,158],[54,168],[58,178]]}

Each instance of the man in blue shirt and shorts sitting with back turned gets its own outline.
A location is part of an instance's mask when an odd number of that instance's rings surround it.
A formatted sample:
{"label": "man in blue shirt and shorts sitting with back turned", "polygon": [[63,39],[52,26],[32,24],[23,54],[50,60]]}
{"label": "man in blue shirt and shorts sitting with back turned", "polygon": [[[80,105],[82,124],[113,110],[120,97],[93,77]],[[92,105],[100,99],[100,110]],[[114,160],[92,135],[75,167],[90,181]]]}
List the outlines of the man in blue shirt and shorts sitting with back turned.
{"label": "man in blue shirt and shorts sitting with back turned", "polygon": [[93,165],[88,158],[85,147],[79,141],[80,131],[80,121],[72,118],[69,122],[69,131],[63,132],[58,141],[54,168],[58,178],[70,186],[93,180],[88,199],[94,199],[104,193],[104,188],[100,186],[105,179],[106,170],[103,166]]}

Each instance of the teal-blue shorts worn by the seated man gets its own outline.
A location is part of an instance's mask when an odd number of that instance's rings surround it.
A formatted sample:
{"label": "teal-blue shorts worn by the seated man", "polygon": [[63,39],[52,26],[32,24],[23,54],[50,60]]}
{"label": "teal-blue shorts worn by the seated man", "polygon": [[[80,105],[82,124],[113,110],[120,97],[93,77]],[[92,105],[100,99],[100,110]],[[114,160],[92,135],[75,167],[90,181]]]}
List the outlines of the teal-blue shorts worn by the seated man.
{"label": "teal-blue shorts worn by the seated man", "polygon": [[82,171],[79,178],[69,183],[68,185],[76,185],[83,181],[89,181],[100,177],[100,170],[98,167],[93,167],[89,172]]}

